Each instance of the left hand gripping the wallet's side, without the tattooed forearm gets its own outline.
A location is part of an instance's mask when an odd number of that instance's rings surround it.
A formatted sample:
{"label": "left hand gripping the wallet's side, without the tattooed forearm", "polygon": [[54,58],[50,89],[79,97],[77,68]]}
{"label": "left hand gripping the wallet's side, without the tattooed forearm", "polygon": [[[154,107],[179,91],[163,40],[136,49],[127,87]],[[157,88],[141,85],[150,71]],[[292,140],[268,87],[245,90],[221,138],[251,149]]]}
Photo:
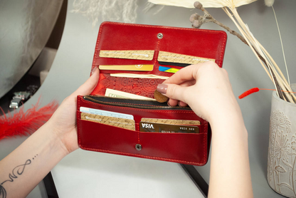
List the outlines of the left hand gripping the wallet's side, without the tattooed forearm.
{"label": "left hand gripping the wallet's side, without the tattooed forearm", "polygon": [[48,127],[60,140],[60,145],[68,154],[78,149],[77,127],[76,127],[76,110],[77,110],[77,95],[89,95],[99,80],[99,70],[95,68],[93,75],[86,82],[63,100],[58,109],[50,120]]}

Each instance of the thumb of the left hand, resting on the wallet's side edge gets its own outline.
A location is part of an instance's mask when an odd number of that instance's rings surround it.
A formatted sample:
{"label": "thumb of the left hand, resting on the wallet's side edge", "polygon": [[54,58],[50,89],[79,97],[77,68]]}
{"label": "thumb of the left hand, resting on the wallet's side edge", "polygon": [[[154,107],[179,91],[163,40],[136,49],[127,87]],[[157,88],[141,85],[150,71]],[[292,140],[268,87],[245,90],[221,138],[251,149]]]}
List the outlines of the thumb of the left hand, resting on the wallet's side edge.
{"label": "thumb of the left hand, resting on the wallet's side edge", "polygon": [[95,68],[93,71],[93,75],[88,78],[88,80],[83,83],[75,92],[73,95],[89,95],[95,86],[97,85],[97,82],[99,81],[100,71],[98,68]]}

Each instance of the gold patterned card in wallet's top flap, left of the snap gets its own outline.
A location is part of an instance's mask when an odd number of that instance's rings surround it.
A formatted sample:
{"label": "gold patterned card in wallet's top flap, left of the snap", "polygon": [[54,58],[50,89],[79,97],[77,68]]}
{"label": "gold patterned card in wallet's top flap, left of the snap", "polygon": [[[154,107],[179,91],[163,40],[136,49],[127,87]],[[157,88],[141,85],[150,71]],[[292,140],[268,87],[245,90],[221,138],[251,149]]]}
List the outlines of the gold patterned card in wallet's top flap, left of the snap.
{"label": "gold patterned card in wallet's top flap, left of the snap", "polygon": [[105,58],[126,58],[126,59],[152,61],[154,56],[154,51],[153,50],[127,50],[127,51],[101,50],[99,56],[105,57]]}

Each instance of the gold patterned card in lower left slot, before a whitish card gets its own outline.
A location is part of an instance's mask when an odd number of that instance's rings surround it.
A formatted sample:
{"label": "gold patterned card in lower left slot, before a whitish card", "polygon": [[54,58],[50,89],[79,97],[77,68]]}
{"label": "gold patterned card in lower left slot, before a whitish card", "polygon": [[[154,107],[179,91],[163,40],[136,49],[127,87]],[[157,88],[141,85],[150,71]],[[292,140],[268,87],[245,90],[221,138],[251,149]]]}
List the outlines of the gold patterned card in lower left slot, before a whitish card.
{"label": "gold patterned card in lower left slot, before a whitish card", "polygon": [[128,130],[136,130],[134,125],[134,120],[124,119],[124,118],[114,118],[104,115],[94,115],[91,113],[81,113],[81,120],[88,120],[95,123],[102,123],[105,125],[110,125],[114,127],[120,127]]}

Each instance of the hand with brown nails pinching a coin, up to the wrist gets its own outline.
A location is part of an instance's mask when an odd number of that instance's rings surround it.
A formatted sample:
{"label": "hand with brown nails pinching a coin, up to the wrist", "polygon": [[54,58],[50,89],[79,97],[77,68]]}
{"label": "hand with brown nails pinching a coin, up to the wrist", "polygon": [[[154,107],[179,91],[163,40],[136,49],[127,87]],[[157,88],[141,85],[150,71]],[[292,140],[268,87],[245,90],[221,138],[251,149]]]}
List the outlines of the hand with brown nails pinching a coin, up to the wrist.
{"label": "hand with brown nails pinching a coin, up to the wrist", "polygon": [[169,105],[188,104],[196,115],[208,121],[240,114],[228,73],[212,61],[182,68],[157,90],[170,98]]}

